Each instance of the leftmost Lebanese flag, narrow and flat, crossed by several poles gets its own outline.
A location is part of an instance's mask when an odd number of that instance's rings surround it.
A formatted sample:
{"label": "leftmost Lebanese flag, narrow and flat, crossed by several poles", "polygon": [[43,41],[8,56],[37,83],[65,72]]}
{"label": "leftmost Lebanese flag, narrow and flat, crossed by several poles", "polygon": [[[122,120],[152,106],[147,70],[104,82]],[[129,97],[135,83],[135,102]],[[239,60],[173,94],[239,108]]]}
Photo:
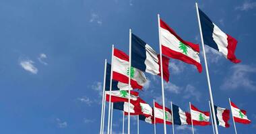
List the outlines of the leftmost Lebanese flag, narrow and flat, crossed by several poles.
{"label": "leftmost Lebanese flag, narrow and flat, crossed by several poles", "polygon": [[[106,101],[109,101],[110,91],[106,92]],[[139,92],[130,91],[131,96],[129,96],[129,93],[127,90],[113,90],[111,91],[111,102],[128,102],[129,98],[131,100],[137,100],[137,97],[139,96]]]}

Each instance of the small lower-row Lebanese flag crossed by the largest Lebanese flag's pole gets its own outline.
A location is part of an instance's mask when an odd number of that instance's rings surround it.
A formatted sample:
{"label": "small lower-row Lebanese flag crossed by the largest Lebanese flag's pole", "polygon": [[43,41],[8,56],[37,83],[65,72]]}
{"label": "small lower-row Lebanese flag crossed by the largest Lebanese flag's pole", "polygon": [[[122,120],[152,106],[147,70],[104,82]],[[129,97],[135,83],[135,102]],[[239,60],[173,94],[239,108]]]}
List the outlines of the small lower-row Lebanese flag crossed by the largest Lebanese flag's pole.
{"label": "small lower-row Lebanese flag crossed by the largest Lebanese flag's pole", "polygon": [[[156,123],[164,123],[164,115],[163,115],[163,107],[155,102],[154,107],[154,116],[156,118]],[[166,124],[171,125],[172,124],[172,111],[170,109],[165,107],[165,121]]]}

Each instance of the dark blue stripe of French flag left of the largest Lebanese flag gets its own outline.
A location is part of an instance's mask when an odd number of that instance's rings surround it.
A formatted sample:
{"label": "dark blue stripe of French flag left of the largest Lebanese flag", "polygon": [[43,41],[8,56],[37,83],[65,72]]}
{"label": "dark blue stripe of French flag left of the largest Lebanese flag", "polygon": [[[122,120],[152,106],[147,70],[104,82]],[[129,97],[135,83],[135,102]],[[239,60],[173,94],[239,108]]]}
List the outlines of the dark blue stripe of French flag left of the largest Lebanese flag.
{"label": "dark blue stripe of French flag left of the largest Lebanese flag", "polygon": [[146,42],[131,34],[131,66],[146,72]]}

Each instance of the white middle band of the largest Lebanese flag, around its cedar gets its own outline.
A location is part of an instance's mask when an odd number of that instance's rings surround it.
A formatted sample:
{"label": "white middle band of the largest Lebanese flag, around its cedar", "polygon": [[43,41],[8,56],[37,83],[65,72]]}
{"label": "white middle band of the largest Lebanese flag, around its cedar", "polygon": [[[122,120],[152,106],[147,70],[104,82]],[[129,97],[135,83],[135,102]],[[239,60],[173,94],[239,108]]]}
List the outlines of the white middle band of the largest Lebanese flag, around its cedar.
{"label": "white middle band of the largest Lebanese flag, around its cedar", "polygon": [[[170,48],[175,52],[183,53],[183,50],[179,48],[180,41],[170,33],[170,31],[160,27],[161,31],[161,44]],[[199,53],[187,46],[187,56],[200,63]]]}

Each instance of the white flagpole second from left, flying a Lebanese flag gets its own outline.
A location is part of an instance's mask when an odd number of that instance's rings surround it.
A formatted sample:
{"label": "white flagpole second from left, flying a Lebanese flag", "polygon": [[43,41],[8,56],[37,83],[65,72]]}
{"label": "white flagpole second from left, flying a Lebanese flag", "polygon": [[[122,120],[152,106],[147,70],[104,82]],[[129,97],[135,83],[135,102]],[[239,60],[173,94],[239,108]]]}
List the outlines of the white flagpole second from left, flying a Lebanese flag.
{"label": "white flagpole second from left, flying a Lebanese flag", "polygon": [[110,104],[111,104],[111,91],[112,91],[112,78],[113,78],[113,55],[114,55],[114,45],[112,45],[112,56],[111,56],[111,73],[110,73],[110,87],[109,87],[109,102],[108,102],[108,133],[110,129]]}

